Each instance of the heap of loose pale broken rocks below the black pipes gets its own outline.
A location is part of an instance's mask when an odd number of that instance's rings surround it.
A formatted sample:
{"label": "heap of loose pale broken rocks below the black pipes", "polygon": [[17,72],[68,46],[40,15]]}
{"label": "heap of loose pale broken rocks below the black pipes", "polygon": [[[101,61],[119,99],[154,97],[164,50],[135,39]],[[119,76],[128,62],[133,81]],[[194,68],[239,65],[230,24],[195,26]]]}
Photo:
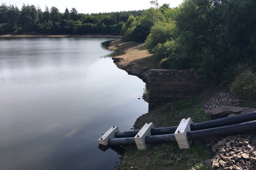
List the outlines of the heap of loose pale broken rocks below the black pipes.
{"label": "heap of loose pale broken rocks below the black pipes", "polygon": [[215,143],[210,160],[212,170],[256,169],[255,133],[227,136]]}

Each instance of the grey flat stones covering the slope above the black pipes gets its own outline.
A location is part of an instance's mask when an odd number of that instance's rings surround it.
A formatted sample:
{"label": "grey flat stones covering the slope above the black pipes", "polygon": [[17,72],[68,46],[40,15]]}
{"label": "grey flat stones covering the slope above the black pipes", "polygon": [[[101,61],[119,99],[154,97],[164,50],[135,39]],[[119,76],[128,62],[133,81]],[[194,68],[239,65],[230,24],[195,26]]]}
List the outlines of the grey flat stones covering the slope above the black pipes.
{"label": "grey flat stones covering the slope above the black pipes", "polygon": [[211,97],[204,100],[204,110],[209,113],[211,109],[220,106],[241,106],[250,101],[239,98],[239,96],[231,94],[228,90],[214,92]]}

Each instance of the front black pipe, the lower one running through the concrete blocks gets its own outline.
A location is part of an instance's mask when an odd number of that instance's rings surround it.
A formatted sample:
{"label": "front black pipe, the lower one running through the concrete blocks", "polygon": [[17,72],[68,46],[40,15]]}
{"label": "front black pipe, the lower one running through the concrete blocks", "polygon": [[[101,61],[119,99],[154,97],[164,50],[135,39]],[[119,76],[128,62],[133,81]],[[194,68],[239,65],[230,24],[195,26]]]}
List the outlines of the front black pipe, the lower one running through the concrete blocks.
{"label": "front black pipe, the lower one running through the concrete blocks", "polygon": [[[232,124],[227,126],[222,126],[218,128],[204,129],[199,131],[187,132],[187,138],[189,140],[195,140],[203,138],[206,136],[224,136],[238,134],[243,131],[256,130],[256,120],[243,122],[238,124]],[[163,143],[163,142],[173,142],[176,141],[174,134],[165,135],[155,135],[146,136],[145,143]],[[118,145],[136,145],[133,137],[128,138],[113,138],[108,140],[108,145],[118,146]]]}

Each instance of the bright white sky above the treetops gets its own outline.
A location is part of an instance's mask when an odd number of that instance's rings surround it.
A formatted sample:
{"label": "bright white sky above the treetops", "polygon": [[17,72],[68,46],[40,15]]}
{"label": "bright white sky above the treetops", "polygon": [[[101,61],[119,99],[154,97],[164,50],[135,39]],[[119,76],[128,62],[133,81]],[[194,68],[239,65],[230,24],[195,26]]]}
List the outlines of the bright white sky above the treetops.
{"label": "bright white sky above the treetops", "polygon": [[[45,5],[50,9],[52,6],[57,7],[61,13],[64,13],[67,7],[70,11],[71,8],[76,8],[79,13],[103,13],[103,12],[120,12],[120,11],[133,11],[133,10],[146,10],[153,5],[150,4],[151,0],[7,0],[2,1],[6,5],[17,5],[21,9],[22,4],[25,5],[39,5],[42,11]],[[1,2],[1,1],[0,1]],[[158,0],[159,5],[169,3],[170,7],[176,7],[181,4],[182,0]]]}

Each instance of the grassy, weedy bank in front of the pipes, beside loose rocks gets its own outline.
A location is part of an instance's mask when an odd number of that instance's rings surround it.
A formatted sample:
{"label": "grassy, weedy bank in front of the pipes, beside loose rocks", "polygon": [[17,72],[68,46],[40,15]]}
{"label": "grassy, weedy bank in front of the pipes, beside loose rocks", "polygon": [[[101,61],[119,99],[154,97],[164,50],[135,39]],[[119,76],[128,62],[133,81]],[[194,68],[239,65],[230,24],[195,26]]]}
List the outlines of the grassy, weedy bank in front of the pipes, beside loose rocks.
{"label": "grassy, weedy bank in front of the pipes, beside loose rocks", "polygon": [[140,151],[135,146],[129,146],[124,156],[121,170],[138,167],[139,170],[155,169],[191,169],[205,168],[204,161],[212,158],[200,141],[194,141],[190,149],[180,150],[177,143],[163,143],[151,145],[148,150]]}

